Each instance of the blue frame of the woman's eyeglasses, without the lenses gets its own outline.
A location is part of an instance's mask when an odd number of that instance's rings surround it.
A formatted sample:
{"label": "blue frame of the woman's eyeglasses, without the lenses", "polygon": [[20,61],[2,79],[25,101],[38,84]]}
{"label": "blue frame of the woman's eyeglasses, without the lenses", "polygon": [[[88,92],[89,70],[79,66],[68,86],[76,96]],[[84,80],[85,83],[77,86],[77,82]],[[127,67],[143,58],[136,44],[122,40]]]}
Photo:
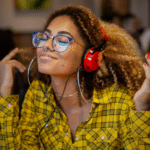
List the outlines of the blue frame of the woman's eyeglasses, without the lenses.
{"label": "blue frame of the woman's eyeglasses, without the lenses", "polygon": [[[59,53],[65,52],[65,51],[68,49],[68,47],[69,47],[71,41],[75,41],[73,38],[70,38],[70,37],[68,37],[68,36],[66,36],[66,35],[61,35],[61,34],[60,34],[60,35],[56,35],[56,36],[48,36],[45,32],[38,31],[38,32],[33,32],[33,33],[32,33],[32,44],[33,44],[33,46],[35,46],[33,41],[34,41],[35,35],[36,35],[37,33],[43,33],[43,34],[46,35],[47,38],[46,38],[45,42],[48,41],[49,38],[52,38],[52,47],[53,47],[53,49],[54,49],[56,52],[59,52]],[[55,39],[56,37],[59,37],[59,36],[67,37],[68,40],[69,40],[69,42],[68,42],[68,44],[67,44],[67,47],[66,47],[66,49],[65,49],[64,51],[58,51],[58,50],[56,50],[56,49],[54,48],[54,39]],[[44,42],[44,43],[45,43],[45,42]],[[43,44],[44,44],[44,43],[43,43]],[[77,43],[78,43],[78,42],[77,42]],[[36,47],[36,46],[35,46],[35,47]],[[36,47],[36,48],[42,48],[42,47],[43,47],[43,46]]]}

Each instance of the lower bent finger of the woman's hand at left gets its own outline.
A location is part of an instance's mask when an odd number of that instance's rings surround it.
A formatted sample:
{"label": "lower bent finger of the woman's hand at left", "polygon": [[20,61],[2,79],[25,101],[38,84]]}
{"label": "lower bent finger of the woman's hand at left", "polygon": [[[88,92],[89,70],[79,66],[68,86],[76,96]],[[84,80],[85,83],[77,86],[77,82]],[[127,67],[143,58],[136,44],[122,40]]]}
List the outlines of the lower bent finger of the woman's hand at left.
{"label": "lower bent finger of the woman's hand at left", "polygon": [[17,68],[22,73],[26,70],[26,67],[17,60],[8,61],[7,65],[9,65],[11,68]]}

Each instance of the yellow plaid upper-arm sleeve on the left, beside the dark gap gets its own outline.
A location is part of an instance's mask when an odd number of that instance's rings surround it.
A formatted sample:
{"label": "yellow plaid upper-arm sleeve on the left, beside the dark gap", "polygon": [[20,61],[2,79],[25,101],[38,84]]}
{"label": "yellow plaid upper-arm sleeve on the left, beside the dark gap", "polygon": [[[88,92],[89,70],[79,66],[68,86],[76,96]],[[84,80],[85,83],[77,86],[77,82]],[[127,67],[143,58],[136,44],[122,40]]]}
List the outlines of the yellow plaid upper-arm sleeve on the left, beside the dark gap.
{"label": "yellow plaid upper-arm sleeve on the left, beside the dark gap", "polygon": [[21,119],[15,133],[15,144],[17,150],[39,150],[39,138],[36,128],[35,105],[37,82],[34,81],[27,91],[21,111]]}

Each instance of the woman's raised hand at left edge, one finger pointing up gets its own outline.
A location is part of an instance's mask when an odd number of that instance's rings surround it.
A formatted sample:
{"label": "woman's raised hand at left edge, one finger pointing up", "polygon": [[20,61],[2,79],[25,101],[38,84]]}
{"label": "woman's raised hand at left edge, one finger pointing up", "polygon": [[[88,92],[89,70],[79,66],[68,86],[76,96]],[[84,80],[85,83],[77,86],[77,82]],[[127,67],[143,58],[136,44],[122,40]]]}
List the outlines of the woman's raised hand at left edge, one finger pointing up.
{"label": "woman's raised hand at left edge, one finger pointing up", "polygon": [[12,59],[18,53],[18,48],[12,50],[0,61],[0,96],[10,96],[13,86],[13,70],[25,71],[25,66]]}

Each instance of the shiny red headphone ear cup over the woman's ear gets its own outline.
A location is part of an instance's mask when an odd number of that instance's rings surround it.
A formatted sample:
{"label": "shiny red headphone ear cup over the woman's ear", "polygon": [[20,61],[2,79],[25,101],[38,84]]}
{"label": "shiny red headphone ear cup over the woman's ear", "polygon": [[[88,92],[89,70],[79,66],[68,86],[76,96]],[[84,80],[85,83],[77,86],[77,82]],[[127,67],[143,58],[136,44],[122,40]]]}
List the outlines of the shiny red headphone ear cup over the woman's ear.
{"label": "shiny red headphone ear cup over the woman's ear", "polygon": [[86,50],[82,57],[82,67],[86,69],[87,72],[95,71],[99,68],[98,65],[98,55],[100,51],[95,51],[96,47],[92,47]]}

